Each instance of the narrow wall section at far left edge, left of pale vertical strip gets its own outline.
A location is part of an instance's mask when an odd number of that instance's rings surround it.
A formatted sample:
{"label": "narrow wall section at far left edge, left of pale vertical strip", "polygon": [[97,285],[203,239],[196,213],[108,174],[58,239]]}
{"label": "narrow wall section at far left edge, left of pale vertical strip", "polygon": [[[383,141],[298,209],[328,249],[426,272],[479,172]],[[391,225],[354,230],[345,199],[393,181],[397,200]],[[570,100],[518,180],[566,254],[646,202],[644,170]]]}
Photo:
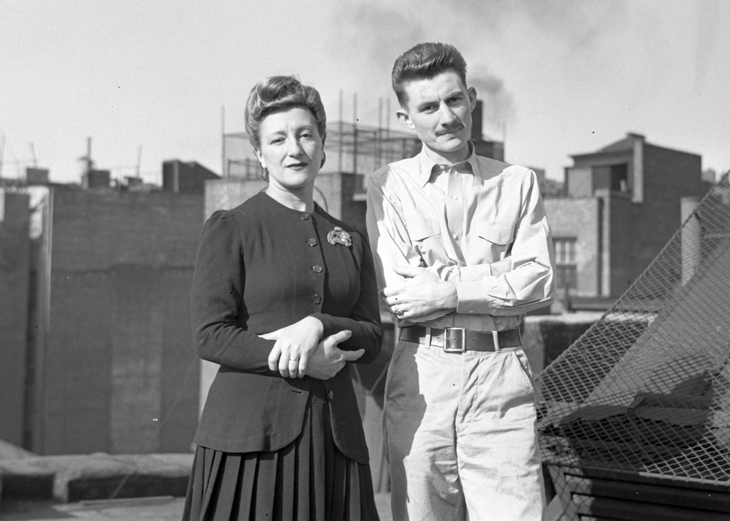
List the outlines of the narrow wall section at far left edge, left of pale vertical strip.
{"label": "narrow wall section at far left edge, left of pale vertical strip", "polygon": [[0,188],[0,439],[22,446],[30,276],[28,195]]}

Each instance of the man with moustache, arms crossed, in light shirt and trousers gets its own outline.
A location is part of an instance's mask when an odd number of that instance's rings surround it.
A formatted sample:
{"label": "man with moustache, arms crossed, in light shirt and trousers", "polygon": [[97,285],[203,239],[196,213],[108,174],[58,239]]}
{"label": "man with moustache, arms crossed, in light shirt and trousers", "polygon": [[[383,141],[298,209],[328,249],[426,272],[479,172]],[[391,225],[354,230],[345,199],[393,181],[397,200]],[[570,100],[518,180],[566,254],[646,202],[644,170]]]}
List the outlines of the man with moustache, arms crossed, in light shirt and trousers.
{"label": "man with moustache, arms crossed, in light shirt and trousers", "polygon": [[455,47],[416,45],[392,80],[399,120],[423,142],[368,190],[380,294],[400,328],[384,418],[393,519],[539,520],[534,388],[518,331],[553,293],[537,178],[475,155],[477,93]]}

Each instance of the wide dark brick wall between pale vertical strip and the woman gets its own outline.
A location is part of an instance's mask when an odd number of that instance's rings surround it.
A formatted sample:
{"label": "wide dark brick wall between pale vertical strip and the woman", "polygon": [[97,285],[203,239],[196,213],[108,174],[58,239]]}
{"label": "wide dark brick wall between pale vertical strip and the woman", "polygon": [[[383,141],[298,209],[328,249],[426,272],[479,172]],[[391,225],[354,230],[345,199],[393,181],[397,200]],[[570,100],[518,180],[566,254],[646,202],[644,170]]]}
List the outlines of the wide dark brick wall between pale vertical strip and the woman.
{"label": "wide dark brick wall between pale vertical strip and the woman", "polygon": [[190,449],[199,374],[189,291],[202,213],[202,196],[53,190],[35,452]]}

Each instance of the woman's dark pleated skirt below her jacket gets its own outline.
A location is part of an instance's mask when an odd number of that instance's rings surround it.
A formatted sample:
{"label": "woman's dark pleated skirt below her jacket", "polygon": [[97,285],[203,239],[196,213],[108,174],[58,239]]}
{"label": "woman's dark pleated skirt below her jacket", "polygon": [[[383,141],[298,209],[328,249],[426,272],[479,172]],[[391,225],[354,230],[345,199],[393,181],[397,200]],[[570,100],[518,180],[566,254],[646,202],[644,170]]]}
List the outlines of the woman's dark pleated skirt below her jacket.
{"label": "woman's dark pleated skirt below her jacket", "polygon": [[274,452],[198,447],[183,521],[377,521],[369,465],[339,452],[313,385],[299,437]]}

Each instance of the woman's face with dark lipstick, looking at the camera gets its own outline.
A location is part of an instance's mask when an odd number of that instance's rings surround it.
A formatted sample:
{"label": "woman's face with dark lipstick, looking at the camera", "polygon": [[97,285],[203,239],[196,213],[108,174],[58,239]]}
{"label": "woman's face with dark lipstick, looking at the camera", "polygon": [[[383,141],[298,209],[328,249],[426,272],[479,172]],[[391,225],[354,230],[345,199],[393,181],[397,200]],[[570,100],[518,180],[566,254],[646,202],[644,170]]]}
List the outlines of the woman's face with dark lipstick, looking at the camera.
{"label": "woman's face with dark lipstick, looking at the camera", "polygon": [[269,183],[284,190],[314,186],[322,165],[323,146],[310,109],[292,107],[264,117],[258,161],[269,171]]}

